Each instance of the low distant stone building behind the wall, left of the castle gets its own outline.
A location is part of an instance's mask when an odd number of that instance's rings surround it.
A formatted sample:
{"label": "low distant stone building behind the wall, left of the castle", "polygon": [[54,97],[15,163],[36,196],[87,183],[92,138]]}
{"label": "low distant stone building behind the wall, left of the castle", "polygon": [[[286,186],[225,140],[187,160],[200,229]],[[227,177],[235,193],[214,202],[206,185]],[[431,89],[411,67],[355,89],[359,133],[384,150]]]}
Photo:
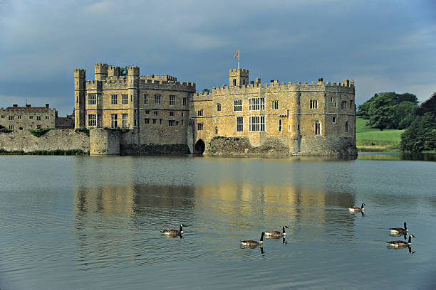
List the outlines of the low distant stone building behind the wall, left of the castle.
{"label": "low distant stone building behind the wall, left of the castle", "polygon": [[14,131],[38,128],[55,128],[58,112],[51,109],[48,104],[46,107],[19,107],[13,104],[6,109],[0,108],[0,127]]}

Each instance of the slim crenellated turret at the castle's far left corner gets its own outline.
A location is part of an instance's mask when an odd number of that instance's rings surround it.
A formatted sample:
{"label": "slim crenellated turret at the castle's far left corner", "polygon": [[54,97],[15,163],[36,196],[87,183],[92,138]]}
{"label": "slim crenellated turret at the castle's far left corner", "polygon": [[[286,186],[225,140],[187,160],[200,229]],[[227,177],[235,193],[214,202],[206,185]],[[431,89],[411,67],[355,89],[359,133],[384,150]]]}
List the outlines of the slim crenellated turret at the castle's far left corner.
{"label": "slim crenellated turret at the castle's far left corner", "polygon": [[85,94],[86,73],[85,70],[74,70],[74,129],[86,127],[85,124]]}

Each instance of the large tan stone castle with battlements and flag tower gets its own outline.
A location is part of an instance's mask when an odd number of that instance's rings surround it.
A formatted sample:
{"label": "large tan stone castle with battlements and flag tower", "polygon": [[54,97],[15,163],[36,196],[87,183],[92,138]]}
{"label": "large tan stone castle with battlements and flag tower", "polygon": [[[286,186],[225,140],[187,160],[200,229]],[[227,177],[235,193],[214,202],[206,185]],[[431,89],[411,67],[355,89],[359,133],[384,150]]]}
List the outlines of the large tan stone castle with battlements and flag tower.
{"label": "large tan stone castle with battlements and flag tower", "polygon": [[140,76],[136,66],[123,76],[96,63],[94,73],[86,80],[85,70],[74,70],[75,127],[92,129],[91,154],[147,154],[153,146],[194,154],[357,152],[353,80],[261,84],[249,70],[231,69],[229,85],[197,93],[194,82]]}

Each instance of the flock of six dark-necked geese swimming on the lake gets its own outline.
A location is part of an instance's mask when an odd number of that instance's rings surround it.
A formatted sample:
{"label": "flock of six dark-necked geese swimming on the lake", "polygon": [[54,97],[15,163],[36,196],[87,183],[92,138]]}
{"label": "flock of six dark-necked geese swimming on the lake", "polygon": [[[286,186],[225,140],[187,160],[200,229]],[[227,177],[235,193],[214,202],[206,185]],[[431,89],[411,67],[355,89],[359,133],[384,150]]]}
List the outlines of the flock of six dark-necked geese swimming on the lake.
{"label": "flock of six dark-necked geese swimming on the lake", "polygon": [[[363,207],[365,206],[365,203],[362,203],[361,207],[353,207],[348,208],[348,210],[352,213],[362,213],[365,210]],[[187,225],[180,224],[179,230],[177,229],[167,229],[167,230],[160,230],[160,232],[164,233],[165,235],[169,236],[180,236],[182,237],[183,234],[183,227],[187,227]],[[244,247],[262,247],[262,244],[264,243],[264,237],[271,238],[271,239],[279,239],[283,238],[283,242],[285,243],[285,237],[286,237],[286,230],[289,229],[288,226],[284,225],[282,228],[282,231],[279,232],[278,230],[273,231],[267,231],[267,232],[261,232],[260,240],[242,240],[241,245]],[[404,239],[406,239],[406,235],[408,234],[409,230],[406,226],[406,222],[404,222],[404,227],[391,227],[390,229],[391,235],[404,235]],[[412,237],[415,237],[414,235],[409,235],[408,242],[405,242],[403,240],[395,240],[395,241],[389,241],[387,242],[390,247],[394,248],[403,248],[403,247],[409,247],[409,252],[411,251],[410,246],[412,245]]]}

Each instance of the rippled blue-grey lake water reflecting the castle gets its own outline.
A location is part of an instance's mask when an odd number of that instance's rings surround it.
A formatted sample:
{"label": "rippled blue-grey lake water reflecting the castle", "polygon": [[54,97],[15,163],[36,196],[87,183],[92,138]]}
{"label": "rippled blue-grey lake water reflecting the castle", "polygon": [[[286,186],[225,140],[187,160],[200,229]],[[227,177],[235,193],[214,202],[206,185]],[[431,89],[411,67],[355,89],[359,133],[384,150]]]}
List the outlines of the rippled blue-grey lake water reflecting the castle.
{"label": "rippled blue-grey lake water reflecting the castle", "polygon": [[373,159],[0,156],[0,289],[436,289],[436,162]]}

